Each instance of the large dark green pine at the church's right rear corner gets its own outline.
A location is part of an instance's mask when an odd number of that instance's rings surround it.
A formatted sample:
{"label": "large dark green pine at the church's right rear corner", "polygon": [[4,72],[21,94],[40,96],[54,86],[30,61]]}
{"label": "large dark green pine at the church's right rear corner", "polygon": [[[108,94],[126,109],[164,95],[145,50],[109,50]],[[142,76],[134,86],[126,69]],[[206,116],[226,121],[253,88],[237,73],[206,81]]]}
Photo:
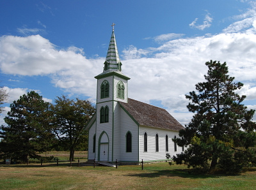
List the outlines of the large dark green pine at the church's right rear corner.
{"label": "large dark green pine at the church's right rear corner", "polygon": [[242,104],[246,96],[239,96],[241,82],[228,76],[224,62],[205,63],[208,66],[205,82],[196,84],[196,92],[186,95],[189,112],[195,113],[181,138],[173,140],[188,149],[173,157],[177,164],[221,168],[226,172],[239,172],[244,166],[256,164],[256,124],[252,122],[255,110]]}

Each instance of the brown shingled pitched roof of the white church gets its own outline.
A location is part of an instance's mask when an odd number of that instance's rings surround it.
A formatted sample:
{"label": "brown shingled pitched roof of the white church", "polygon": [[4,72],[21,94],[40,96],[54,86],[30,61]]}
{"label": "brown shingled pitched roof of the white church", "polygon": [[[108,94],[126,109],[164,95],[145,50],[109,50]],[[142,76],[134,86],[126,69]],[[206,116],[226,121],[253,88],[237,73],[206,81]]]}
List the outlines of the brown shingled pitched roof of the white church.
{"label": "brown shingled pitched roof of the white church", "polygon": [[148,105],[147,103],[131,98],[128,99],[128,103],[119,103],[141,126],[173,131],[184,129],[184,127],[163,108]]}

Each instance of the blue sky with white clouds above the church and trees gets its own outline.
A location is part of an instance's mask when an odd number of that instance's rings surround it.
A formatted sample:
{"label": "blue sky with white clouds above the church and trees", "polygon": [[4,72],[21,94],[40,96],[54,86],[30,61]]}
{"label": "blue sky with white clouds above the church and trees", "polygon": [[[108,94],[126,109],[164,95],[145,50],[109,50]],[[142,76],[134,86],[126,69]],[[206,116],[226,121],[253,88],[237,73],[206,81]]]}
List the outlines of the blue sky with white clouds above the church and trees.
{"label": "blue sky with white clouds above the church and trees", "polygon": [[[166,108],[181,124],[184,94],[204,81],[205,62],[227,62],[256,109],[256,3],[239,0],[0,1],[0,85],[13,100],[36,91],[95,102],[111,24],[129,98]],[[253,120],[256,119],[254,116]]]}

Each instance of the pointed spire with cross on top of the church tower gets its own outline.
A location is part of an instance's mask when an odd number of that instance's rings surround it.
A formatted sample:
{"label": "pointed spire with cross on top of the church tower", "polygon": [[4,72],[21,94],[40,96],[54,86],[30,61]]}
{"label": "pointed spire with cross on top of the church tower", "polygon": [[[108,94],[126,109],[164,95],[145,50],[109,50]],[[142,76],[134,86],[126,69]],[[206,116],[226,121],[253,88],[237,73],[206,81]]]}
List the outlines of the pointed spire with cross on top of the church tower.
{"label": "pointed spire with cross on top of the church tower", "polygon": [[116,39],[115,39],[115,33],[114,33],[114,26],[115,24],[111,25],[113,27],[112,35],[109,42],[108,47],[108,54],[106,57],[106,61],[104,62],[104,71],[120,71],[122,72],[121,66],[122,62],[119,59],[118,50],[116,47]]}

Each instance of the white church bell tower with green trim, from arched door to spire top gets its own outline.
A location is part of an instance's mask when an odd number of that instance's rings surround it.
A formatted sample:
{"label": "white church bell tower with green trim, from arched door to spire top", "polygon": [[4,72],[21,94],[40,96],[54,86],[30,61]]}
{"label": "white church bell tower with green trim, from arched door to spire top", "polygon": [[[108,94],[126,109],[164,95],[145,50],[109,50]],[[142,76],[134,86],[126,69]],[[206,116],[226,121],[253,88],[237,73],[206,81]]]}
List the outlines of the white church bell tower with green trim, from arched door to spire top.
{"label": "white church bell tower with green trim, from arched door to spire top", "polygon": [[[97,119],[96,119],[96,141],[95,159],[97,161],[114,161],[118,159],[118,140],[120,131],[120,117],[118,101],[128,102],[128,86],[130,79],[122,73],[122,62],[120,61],[116,47],[116,39],[113,31],[111,34],[106,61],[103,72],[97,75]],[[115,151],[116,150],[116,151]]]}

